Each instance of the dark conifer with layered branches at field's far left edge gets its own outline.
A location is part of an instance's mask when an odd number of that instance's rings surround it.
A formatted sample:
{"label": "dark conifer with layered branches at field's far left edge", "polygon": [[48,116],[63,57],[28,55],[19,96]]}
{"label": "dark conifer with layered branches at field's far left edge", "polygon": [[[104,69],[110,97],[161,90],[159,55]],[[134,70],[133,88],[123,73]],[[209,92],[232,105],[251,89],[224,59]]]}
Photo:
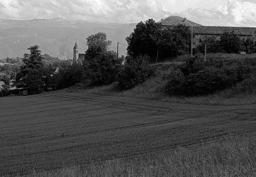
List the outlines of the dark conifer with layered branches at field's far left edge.
{"label": "dark conifer with layered branches at field's far left edge", "polygon": [[24,54],[23,66],[16,76],[16,86],[27,88],[29,94],[40,93],[44,90],[43,62],[39,46],[30,46],[30,54]]}

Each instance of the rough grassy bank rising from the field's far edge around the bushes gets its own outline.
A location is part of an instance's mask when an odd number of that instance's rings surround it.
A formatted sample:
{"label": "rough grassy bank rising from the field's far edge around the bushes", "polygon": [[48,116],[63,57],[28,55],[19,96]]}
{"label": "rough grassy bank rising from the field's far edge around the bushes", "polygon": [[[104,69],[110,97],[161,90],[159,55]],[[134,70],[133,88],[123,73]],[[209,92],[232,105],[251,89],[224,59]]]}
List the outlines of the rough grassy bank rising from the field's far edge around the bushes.
{"label": "rough grassy bank rising from the field's far edge around the bushes", "polygon": [[[208,57],[213,57],[213,54],[208,54]],[[256,54],[246,54],[246,58],[255,58]],[[223,59],[240,59],[240,54],[216,54],[216,57]],[[101,95],[117,95],[121,97],[135,97],[143,99],[158,99],[162,101],[170,101],[175,103],[192,103],[197,105],[247,105],[256,103],[256,91],[255,93],[236,93],[231,89],[215,93],[213,95],[200,96],[200,97],[169,97],[165,94],[165,85],[167,84],[167,77],[170,72],[170,68],[173,65],[181,65],[188,56],[182,56],[177,59],[176,62],[165,62],[154,65],[156,69],[156,76],[148,79],[143,84],[135,86],[131,90],[120,92],[117,89],[117,84],[111,84],[109,86],[100,86],[84,90],[83,88],[68,88],[65,91],[81,91],[86,93],[95,93]]]}

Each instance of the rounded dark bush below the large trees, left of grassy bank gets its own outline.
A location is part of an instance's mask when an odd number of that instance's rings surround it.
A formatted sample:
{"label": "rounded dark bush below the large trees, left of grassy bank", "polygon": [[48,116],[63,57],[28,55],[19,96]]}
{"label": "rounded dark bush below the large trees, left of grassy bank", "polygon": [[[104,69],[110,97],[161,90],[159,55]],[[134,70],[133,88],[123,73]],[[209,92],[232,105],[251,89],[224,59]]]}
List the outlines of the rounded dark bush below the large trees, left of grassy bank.
{"label": "rounded dark bush below the large trees, left of grassy bank", "polygon": [[150,57],[146,55],[132,59],[127,57],[125,65],[119,71],[117,82],[121,90],[127,90],[141,84],[153,74],[149,63]]}

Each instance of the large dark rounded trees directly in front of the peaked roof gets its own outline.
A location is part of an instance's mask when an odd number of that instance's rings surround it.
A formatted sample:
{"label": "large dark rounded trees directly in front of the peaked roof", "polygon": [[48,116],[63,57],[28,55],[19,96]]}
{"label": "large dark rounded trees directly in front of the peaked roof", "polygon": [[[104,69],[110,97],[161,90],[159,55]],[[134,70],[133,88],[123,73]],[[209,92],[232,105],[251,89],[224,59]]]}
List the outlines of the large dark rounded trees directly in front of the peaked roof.
{"label": "large dark rounded trees directly in front of the peaked roof", "polygon": [[153,19],[139,22],[126,38],[128,54],[132,57],[147,54],[152,62],[186,54],[190,50],[190,34],[190,28],[184,25],[162,29]]}

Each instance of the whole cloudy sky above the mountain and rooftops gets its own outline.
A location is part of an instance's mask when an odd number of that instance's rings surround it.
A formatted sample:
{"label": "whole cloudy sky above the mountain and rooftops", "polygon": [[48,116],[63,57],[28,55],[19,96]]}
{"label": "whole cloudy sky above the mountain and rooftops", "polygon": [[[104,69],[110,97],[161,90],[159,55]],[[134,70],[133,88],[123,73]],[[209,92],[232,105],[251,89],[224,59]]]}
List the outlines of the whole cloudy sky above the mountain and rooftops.
{"label": "whole cloudy sky above the mountain and rooftops", "polygon": [[0,18],[139,22],[170,15],[202,25],[256,27],[256,0],[0,0]]}

